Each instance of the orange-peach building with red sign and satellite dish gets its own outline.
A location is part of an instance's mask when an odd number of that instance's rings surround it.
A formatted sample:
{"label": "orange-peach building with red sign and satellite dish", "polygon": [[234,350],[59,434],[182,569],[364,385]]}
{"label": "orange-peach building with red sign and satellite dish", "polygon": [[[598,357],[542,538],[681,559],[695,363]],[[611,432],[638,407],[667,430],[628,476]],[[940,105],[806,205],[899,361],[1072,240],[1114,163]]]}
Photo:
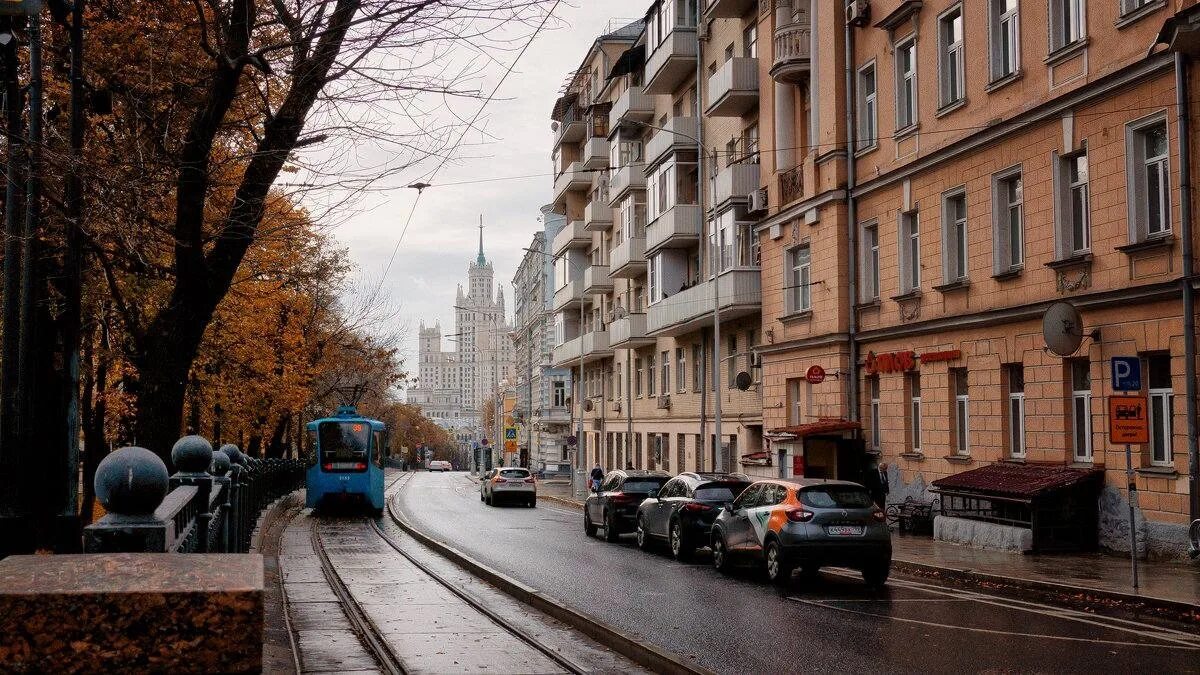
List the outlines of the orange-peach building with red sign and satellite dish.
{"label": "orange-peach building with red sign and satellite dish", "polygon": [[[893,500],[995,462],[1102,471],[1098,539],[1128,550],[1124,446],[1109,440],[1105,404],[1109,359],[1136,356],[1151,407],[1151,442],[1133,447],[1139,530],[1148,551],[1178,555],[1195,518],[1180,193],[1190,130],[1175,55],[1157,43],[1194,2],[836,5],[760,13],[760,34],[775,36],[761,102],[775,120],[762,125],[758,351],[781,459],[804,453],[805,429],[860,438],[890,465]],[[799,60],[790,26],[806,31]],[[803,64],[799,86],[781,88],[788,62]],[[1058,300],[1082,313],[1067,358],[1043,338]],[[810,383],[812,366],[832,377]]]}

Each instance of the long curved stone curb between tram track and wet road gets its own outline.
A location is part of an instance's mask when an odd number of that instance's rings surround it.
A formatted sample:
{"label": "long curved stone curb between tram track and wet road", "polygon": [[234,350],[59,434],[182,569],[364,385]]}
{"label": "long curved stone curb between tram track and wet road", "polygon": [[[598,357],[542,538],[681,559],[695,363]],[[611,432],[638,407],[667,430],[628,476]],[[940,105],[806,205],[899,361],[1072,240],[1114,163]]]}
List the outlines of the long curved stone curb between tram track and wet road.
{"label": "long curved stone curb between tram track and wet road", "polygon": [[[552,498],[558,501],[557,497],[539,496],[539,498]],[[578,506],[576,502],[568,503]],[[580,631],[581,633],[640,665],[644,665],[655,673],[713,675],[712,670],[706,670],[680,655],[638,640],[637,638],[634,638],[624,631],[610,626],[599,619],[593,619],[583,613],[576,611],[566,607],[564,603],[544,595],[541,591],[527,586],[502,572],[497,572],[496,569],[478,562],[475,558],[468,556],[450,544],[430,537],[420,530],[416,530],[416,527],[410,525],[408,520],[402,518],[397,513],[392,502],[388,503],[388,514],[396,525],[408,532],[414,539],[421,542],[426,546],[430,546],[443,557],[446,557],[466,568],[472,574],[496,586],[517,601],[521,601],[551,617],[562,621],[571,628]]]}

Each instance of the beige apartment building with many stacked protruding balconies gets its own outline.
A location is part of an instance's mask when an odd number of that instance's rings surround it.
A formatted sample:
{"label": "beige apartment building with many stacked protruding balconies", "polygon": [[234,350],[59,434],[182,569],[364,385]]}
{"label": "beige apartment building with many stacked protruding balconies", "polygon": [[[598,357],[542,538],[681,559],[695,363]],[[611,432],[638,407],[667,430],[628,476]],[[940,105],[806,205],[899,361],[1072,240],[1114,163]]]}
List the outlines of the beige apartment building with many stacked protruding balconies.
{"label": "beige apartment building with many stacked protruding balconies", "polygon": [[[722,84],[733,77],[721,67],[725,50],[748,53],[746,22],[722,19],[702,35],[700,11],[695,0],[655,2],[644,19],[606,32],[552,115],[554,208],[566,217],[552,245],[553,363],[582,374],[575,414],[589,465],[710,471],[760,461],[761,398],[750,382],[736,387],[755,371],[760,325],[744,215],[758,184],[745,141],[756,137],[746,80],[756,73],[738,73],[740,89]],[[713,82],[724,86],[719,101]],[[713,144],[706,138],[726,150],[701,151]]]}

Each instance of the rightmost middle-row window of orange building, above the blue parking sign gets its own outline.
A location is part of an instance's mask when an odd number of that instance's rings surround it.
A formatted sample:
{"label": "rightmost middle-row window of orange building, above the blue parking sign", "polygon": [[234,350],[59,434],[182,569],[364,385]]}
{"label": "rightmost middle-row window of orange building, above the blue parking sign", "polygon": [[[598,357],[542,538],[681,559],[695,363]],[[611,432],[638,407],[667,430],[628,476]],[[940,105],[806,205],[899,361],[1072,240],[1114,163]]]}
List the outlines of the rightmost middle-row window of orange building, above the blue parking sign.
{"label": "rightmost middle-row window of orange building, above the blue parking sign", "polygon": [[1165,117],[1157,115],[1126,130],[1132,243],[1171,232],[1171,186],[1166,157]]}

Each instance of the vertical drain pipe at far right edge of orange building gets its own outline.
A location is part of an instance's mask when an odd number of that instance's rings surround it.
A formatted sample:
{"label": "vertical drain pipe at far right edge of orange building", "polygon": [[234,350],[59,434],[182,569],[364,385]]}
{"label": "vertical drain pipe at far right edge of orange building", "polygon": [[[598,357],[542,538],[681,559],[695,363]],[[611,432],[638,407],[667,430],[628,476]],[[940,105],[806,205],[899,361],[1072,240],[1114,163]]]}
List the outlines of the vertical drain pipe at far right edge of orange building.
{"label": "vertical drain pipe at far right edge of orange building", "polygon": [[1192,520],[1200,518],[1200,453],[1196,440],[1196,335],[1195,298],[1192,275],[1192,120],[1188,56],[1175,52],[1175,109],[1180,129],[1180,238],[1183,240],[1183,360],[1187,374],[1188,418],[1188,497]]}

